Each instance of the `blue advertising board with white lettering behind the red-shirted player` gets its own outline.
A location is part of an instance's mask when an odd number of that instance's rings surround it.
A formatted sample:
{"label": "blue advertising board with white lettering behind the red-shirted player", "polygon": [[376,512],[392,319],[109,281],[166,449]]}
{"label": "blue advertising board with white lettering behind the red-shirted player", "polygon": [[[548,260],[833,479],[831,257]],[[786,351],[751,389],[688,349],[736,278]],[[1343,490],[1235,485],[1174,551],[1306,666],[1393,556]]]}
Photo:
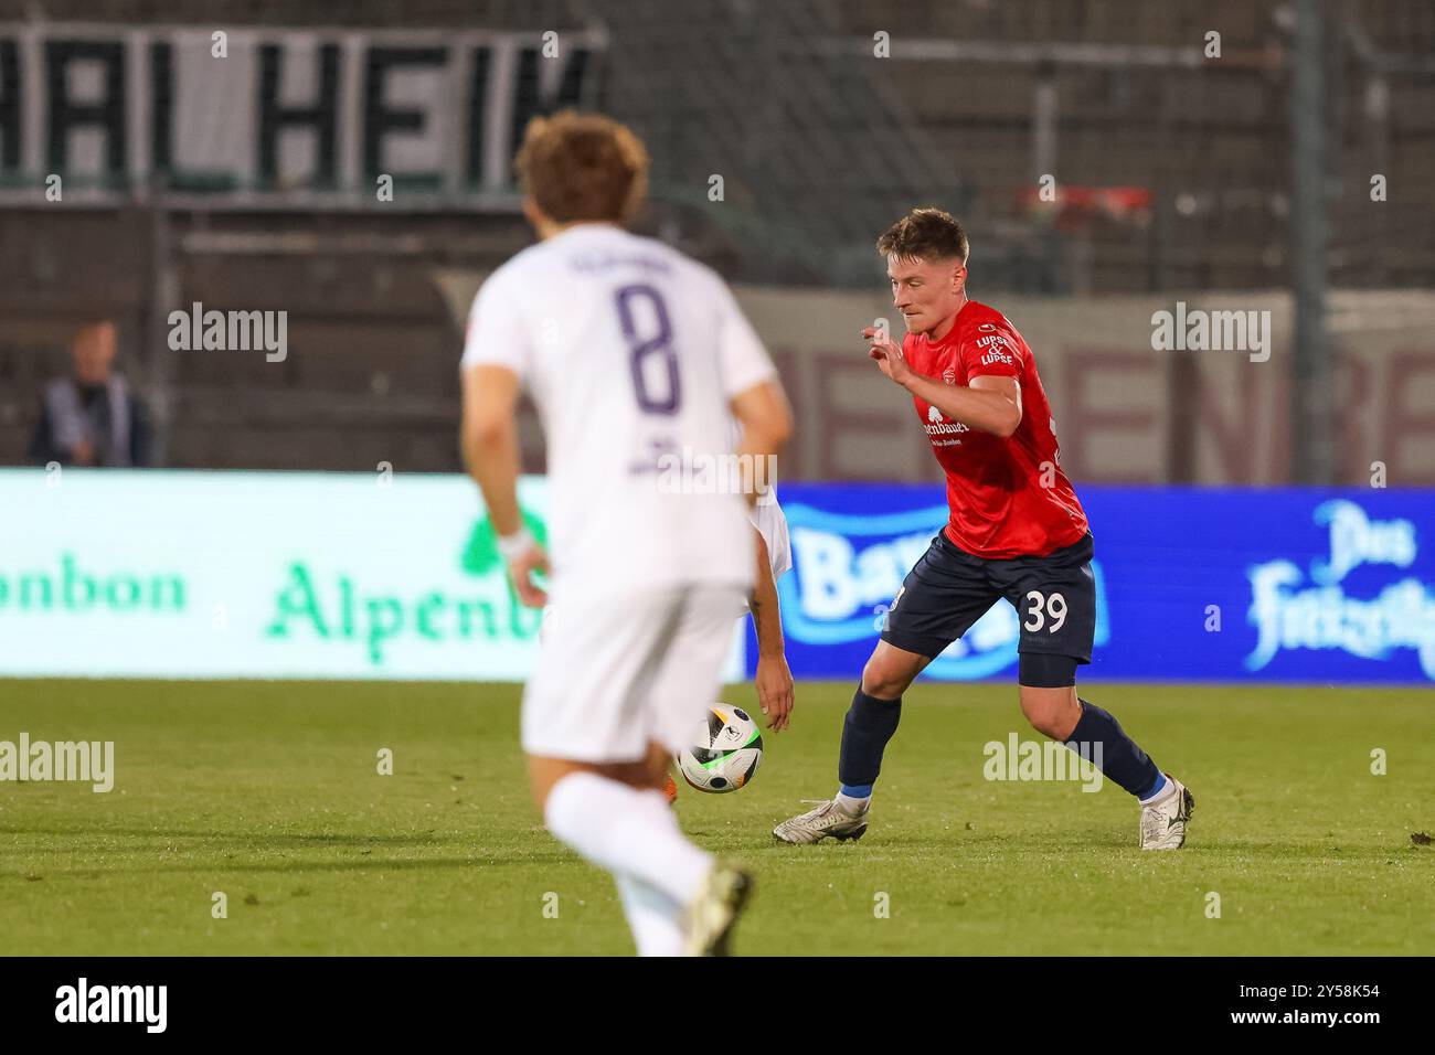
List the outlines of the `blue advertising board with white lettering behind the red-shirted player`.
{"label": "blue advertising board with white lettering behind the red-shirted player", "polygon": [[[1096,639],[1082,679],[1435,682],[1435,494],[1083,487]],[[785,484],[778,584],[798,677],[857,679],[903,578],[947,521],[927,485]],[[751,637],[749,629],[749,637]],[[997,601],[924,677],[1016,679]],[[752,642],[749,640],[749,644]],[[749,672],[756,649],[748,649]]]}

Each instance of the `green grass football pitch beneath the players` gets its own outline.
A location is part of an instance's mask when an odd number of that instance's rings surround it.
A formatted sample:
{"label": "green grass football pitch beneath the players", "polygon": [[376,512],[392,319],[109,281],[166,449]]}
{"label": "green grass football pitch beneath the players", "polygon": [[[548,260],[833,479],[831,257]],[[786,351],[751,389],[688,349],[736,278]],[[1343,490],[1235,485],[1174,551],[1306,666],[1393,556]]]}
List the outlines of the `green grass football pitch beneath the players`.
{"label": "green grass football pitch beneath the players", "polygon": [[[775,845],[835,788],[847,683],[799,683],[702,845],[758,874],[748,955],[1435,953],[1428,690],[1082,686],[1197,800],[1137,850],[1115,785],[989,782],[1015,686],[918,685],[861,843]],[[626,955],[611,883],[528,798],[518,686],[0,683],[0,741],[115,741],[115,789],[0,784],[10,955]],[[753,706],[751,686],[723,698]],[[393,775],[377,752],[393,752]],[[1370,772],[1383,748],[1388,772]],[[214,919],[222,891],[228,917]],[[1220,896],[1220,917],[1210,917]],[[557,899],[547,897],[557,894]],[[885,897],[881,897],[885,894]],[[885,904],[883,917],[880,909]],[[552,906],[557,917],[552,917]],[[545,907],[548,911],[545,913]]]}

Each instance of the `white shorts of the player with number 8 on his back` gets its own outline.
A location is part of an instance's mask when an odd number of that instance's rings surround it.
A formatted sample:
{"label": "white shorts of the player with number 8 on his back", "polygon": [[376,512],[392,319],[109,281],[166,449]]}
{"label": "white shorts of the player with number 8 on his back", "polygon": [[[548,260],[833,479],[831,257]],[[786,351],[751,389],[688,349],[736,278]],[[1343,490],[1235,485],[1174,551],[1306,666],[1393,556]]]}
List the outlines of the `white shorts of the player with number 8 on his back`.
{"label": "white shorts of the player with number 8 on his back", "polygon": [[718,699],[743,600],[710,583],[558,600],[524,689],[524,751],[636,762],[657,741],[677,754]]}

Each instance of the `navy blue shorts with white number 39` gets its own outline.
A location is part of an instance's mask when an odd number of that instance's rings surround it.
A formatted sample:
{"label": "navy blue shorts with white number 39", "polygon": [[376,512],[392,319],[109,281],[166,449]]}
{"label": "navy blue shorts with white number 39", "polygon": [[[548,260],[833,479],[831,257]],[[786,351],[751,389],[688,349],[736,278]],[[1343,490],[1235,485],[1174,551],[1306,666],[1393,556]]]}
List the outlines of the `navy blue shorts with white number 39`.
{"label": "navy blue shorts with white number 39", "polygon": [[1091,663],[1096,634],[1093,544],[1088,531],[1046,557],[987,560],[959,550],[938,531],[907,573],[883,627],[883,640],[936,657],[1003,597],[1022,626],[1017,652]]}

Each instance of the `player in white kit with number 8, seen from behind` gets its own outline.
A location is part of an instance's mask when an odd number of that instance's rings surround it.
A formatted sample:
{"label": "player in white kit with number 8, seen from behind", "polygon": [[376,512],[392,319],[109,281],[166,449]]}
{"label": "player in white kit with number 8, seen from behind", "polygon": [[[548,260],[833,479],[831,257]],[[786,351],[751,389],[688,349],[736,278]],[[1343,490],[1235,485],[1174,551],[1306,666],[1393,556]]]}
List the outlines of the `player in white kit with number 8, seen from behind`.
{"label": "player in white kit with number 8, seen from behind", "polygon": [[[673,487],[664,466],[730,454],[729,416],[740,455],[775,456],[791,412],[722,280],[621,230],[646,171],[607,118],[530,125],[518,172],[541,241],[474,301],[462,445],[519,599],[551,593],[522,705],[548,830],[613,873],[640,953],[722,955],[751,876],[687,841],[657,788],[715,699],[756,533],[745,495]],[[547,439],[551,568],[518,512],[519,386]]]}

